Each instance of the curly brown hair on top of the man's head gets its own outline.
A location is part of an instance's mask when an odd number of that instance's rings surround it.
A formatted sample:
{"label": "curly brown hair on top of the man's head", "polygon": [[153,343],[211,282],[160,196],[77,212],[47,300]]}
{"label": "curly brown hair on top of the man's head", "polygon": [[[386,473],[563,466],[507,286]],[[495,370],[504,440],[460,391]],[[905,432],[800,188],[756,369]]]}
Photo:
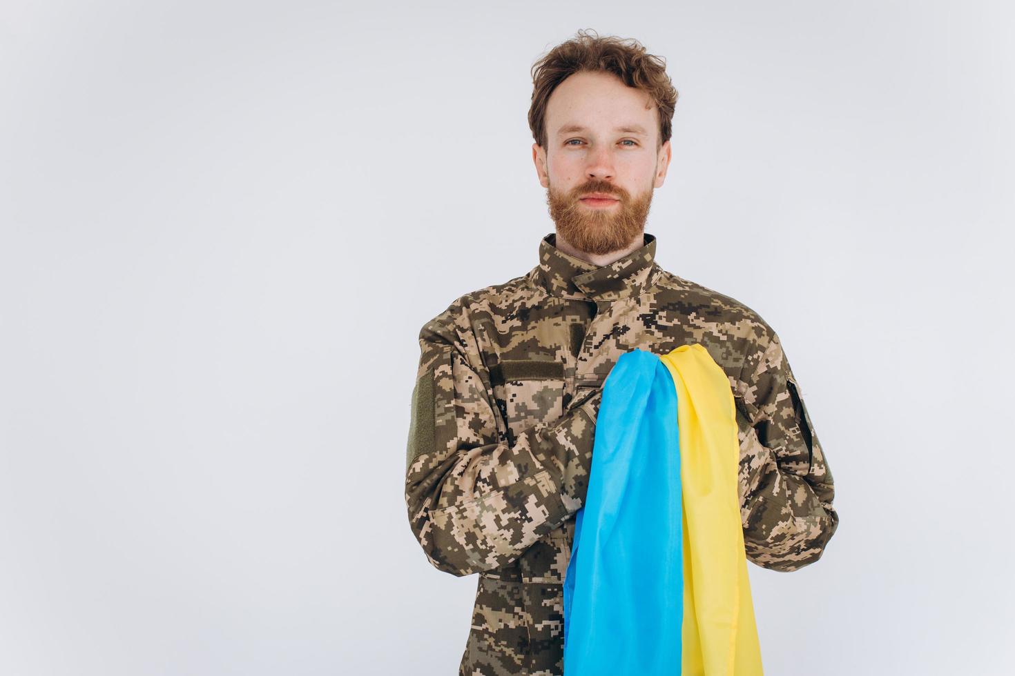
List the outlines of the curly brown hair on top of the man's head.
{"label": "curly brown hair on top of the man's head", "polygon": [[541,147],[546,147],[546,103],[550,100],[550,94],[569,75],[583,71],[613,73],[628,87],[647,91],[656,103],[659,117],[656,150],[670,140],[677,90],[666,74],[666,59],[648,54],[636,40],[623,40],[615,35],[600,37],[595,30],[582,29],[574,37],[557,45],[532,66],[529,128],[532,130],[532,137]]}

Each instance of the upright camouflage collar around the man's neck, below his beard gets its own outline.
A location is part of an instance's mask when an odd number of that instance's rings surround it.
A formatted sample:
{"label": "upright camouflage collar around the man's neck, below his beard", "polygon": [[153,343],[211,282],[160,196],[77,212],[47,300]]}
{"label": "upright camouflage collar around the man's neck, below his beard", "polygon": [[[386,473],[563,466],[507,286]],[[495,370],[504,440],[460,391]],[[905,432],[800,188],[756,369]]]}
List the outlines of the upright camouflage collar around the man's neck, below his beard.
{"label": "upright camouflage collar around the man's neck, below his beard", "polygon": [[645,233],[645,244],[598,268],[556,247],[557,236],[550,233],[539,242],[539,265],[528,277],[551,296],[596,301],[637,296],[663,274],[656,262],[656,236]]}

